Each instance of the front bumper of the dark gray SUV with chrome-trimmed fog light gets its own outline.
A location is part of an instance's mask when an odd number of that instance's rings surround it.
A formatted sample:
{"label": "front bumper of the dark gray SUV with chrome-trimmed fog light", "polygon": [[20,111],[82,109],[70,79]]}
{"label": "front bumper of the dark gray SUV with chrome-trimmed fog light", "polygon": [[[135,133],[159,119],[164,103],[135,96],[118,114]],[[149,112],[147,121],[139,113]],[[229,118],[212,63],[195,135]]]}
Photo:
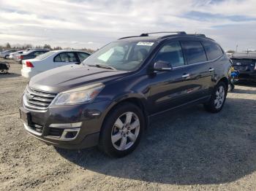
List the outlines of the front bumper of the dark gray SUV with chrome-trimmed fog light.
{"label": "front bumper of the dark gray SUV with chrome-trimmed fog light", "polygon": [[72,106],[52,106],[45,112],[22,106],[20,112],[28,114],[29,120],[23,121],[24,128],[31,136],[56,147],[83,149],[98,144],[99,131],[108,104],[107,101],[102,101]]}

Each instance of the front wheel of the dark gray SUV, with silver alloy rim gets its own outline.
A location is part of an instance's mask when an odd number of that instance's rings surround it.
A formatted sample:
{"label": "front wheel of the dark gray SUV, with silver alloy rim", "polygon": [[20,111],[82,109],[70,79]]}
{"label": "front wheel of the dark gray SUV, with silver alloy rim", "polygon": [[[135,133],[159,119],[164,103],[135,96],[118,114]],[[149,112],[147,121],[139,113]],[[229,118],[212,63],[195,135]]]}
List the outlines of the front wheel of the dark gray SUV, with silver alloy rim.
{"label": "front wheel of the dark gray SUV, with silver alloy rim", "polygon": [[129,102],[119,104],[102,125],[99,149],[111,157],[124,157],[138,146],[144,128],[145,119],[138,106]]}

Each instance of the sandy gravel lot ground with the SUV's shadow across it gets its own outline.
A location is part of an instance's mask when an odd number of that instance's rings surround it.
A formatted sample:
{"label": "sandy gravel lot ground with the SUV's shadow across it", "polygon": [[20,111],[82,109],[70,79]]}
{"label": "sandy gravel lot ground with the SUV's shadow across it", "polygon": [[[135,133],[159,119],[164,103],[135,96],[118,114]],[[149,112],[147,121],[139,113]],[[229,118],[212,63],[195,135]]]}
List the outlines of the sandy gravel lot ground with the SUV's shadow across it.
{"label": "sandy gravel lot ground with the SUV's shadow across it", "polygon": [[113,159],[29,136],[18,114],[28,82],[20,68],[12,62],[0,76],[0,190],[256,189],[256,85],[237,85],[219,114],[166,114],[132,155]]}

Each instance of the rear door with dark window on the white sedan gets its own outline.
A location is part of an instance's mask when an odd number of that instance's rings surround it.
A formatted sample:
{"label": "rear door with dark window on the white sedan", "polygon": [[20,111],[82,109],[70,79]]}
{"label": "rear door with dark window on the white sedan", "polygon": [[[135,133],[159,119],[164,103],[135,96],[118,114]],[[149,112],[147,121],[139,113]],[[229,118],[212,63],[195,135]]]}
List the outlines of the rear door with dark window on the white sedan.
{"label": "rear door with dark window on the white sedan", "polygon": [[75,52],[61,52],[53,58],[53,62],[53,68],[56,68],[68,64],[79,63],[80,61],[78,60],[77,55],[75,55]]}

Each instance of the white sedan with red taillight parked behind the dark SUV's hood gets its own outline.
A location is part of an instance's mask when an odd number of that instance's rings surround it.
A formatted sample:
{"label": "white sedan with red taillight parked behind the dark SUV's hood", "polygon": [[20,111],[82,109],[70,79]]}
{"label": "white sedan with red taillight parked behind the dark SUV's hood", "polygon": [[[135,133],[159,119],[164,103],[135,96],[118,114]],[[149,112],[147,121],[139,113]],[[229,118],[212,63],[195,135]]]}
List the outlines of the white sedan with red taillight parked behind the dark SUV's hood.
{"label": "white sedan with red taillight parked behind the dark SUV's hood", "polygon": [[65,66],[73,63],[80,63],[87,57],[88,52],[79,50],[53,50],[39,55],[34,59],[23,60],[21,75],[26,78],[34,77],[34,75],[54,69],[56,67]]}

